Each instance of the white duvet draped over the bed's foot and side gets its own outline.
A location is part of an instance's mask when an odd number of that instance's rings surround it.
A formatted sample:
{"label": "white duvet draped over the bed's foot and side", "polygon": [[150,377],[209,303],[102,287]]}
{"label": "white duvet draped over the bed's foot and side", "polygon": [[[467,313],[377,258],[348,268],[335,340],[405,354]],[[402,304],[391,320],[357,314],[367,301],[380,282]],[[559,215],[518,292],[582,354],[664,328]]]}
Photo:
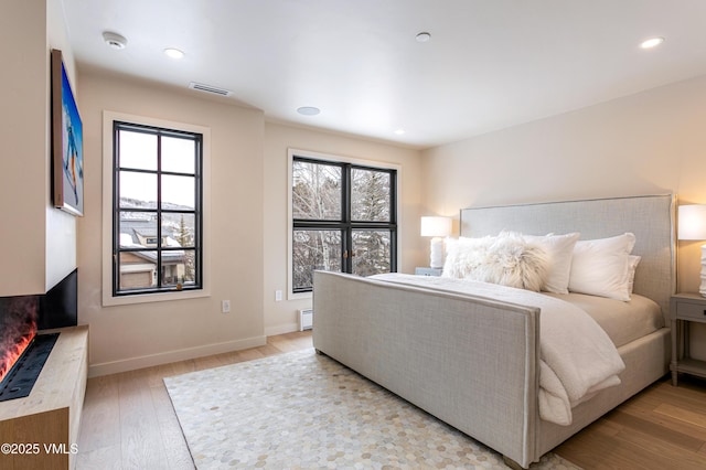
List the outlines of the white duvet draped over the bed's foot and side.
{"label": "white duvet draped over the bed's foot and side", "polygon": [[393,273],[372,278],[538,307],[542,419],[570,425],[574,406],[602,388],[620,384],[618,374],[625,365],[608,334],[588,313],[564,300],[494,284],[442,277]]}

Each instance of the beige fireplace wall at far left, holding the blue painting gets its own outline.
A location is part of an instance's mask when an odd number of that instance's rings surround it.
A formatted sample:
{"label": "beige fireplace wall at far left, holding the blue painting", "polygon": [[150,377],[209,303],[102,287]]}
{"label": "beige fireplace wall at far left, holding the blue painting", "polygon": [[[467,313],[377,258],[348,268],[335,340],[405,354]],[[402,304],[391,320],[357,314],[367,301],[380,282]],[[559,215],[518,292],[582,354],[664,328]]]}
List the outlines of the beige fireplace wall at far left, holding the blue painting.
{"label": "beige fireplace wall at far left, holding the blue painting", "polygon": [[50,50],[65,53],[60,0],[6,2],[0,14],[0,296],[44,293],[76,267],[76,221],[52,206]]}

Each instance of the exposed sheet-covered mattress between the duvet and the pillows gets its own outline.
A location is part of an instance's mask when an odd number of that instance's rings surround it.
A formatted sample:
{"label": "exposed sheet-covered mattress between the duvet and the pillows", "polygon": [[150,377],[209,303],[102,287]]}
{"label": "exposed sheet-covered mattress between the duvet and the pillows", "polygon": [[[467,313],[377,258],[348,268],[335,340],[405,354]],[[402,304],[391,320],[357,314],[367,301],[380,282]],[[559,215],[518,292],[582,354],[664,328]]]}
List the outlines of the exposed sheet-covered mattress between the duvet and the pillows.
{"label": "exposed sheet-covered mattress between the duvet and the pillows", "polygon": [[584,293],[548,293],[586,311],[606,331],[616,348],[664,327],[660,306],[633,293],[629,302]]}

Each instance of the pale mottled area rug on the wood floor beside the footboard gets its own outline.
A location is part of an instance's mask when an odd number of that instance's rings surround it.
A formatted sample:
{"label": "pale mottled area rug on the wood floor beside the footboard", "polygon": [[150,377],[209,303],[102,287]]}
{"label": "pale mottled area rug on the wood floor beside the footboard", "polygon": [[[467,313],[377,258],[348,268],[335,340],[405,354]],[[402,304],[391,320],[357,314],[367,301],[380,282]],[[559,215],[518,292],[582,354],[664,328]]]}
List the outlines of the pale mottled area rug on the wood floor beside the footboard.
{"label": "pale mottled area rug on the wood floor beside the footboard", "polygon": [[[506,469],[313,349],[164,378],[197,469]],[[577,469],[548,453],[533,469]]]}

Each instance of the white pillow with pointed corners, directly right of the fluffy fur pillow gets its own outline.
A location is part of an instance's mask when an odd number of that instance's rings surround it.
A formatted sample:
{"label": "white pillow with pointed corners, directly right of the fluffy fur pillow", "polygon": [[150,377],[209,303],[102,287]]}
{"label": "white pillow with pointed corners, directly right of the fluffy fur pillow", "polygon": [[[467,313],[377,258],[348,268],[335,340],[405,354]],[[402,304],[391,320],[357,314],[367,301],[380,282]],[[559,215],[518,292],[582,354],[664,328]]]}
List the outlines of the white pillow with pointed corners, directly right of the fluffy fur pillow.
{"label": "white pillow with pointed corners, directly right of the fluffy fur pillow", "polygon": [[574,232],[566,235],[523,235],[527,242],[542,247],[549,256],[549,273],[542,290],[554,293],[569,293],[569,275],[571,273],[571,259],[574,246],[580,234]]}

